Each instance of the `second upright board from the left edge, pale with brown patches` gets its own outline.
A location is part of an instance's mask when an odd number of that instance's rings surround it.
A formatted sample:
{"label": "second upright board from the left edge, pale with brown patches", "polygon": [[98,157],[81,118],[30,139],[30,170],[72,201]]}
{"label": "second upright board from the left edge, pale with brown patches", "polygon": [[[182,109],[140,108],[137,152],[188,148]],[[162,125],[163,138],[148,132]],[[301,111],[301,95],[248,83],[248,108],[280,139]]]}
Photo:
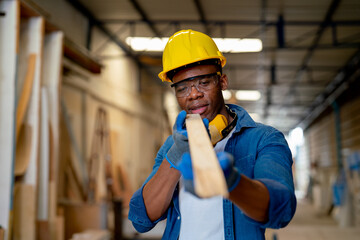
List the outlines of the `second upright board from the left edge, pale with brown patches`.
{"label": "second upright board from the left edge, pale with brown patches", "polygon": [[[24,117],[24,123],[31,126],[31,146],[29,154],[29,164],[22,178],[18,183],[27,188],[25,197],[26,206],[29,212],[34,214],[26,215],[26,228],[20,224],[21,227],[15,227],[16,221],[14,220],[14,231],[20,228],[21,231],[26,229],[26,238],[23,239],[35,239],[36,232],[36,196],[37,196],[37,170],[38,170],[38,147],[39,147],[39,108],[40,108],[40,75],[41,75],[41,51],[44,35],[44,19],[42,17],[32,17],[29,19],[21,19],[20,24],[20,39],[19,39],[19,68],[18,68],[18,82],[17,82],[17,94],[19,95],[24,86],[24,80],[27,69],[27,62],[30,54],[36,55],[34,79],[31,89],[31,96],[29,98],[28,108]],[[25,194],[25,193],[24,193]],[[25,204],[25,203],[24,203]],[[22,205],[14,205],[15,212],[24,211]],[[20,208],[20,209],[19,209]],[[26,211],[24,211],[26,212]],[[22,219],[22,218],[21,218]],[[22,220],[21,220],[22,221]],[[15,233],[14,233],[15,234]],[[14,235],[15,237],[15,235]],[[22,233],[20,234],[22,238]]]}

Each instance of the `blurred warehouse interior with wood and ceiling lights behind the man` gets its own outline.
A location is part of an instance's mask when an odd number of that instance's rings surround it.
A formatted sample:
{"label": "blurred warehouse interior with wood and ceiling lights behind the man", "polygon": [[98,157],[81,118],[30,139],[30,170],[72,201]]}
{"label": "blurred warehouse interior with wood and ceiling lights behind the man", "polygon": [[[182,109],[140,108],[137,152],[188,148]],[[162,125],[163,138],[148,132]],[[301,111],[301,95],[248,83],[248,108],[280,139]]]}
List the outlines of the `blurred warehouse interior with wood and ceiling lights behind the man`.
{"label": "blurred warehouse interior with wood and ceiling lights behind the man", "polygon": [[225,43],[226,102],[292,150],[297,212],[266,238],[358,238],[360,1],[1,0],[1,240],[161,239],[127,213],[180,111],[158,73],[181,29]]}

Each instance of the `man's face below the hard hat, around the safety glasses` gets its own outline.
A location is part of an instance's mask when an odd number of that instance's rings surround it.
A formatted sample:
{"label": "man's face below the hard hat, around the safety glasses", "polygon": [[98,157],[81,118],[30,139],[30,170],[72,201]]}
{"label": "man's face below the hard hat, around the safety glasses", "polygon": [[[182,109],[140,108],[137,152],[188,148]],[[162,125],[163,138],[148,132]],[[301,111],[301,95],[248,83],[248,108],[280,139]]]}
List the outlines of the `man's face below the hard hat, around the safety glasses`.
{"label": "man's face below the hard hat, around the safety glasses", "polygon": [[[184,69],[173,77],[173,83],[178,83],[184,79],[215,73],[217,71],[214,65],[199,65]],[[216,86],[208,91],[198,91],[192,86],[187,97],[177,97],[177,101],[182,110],[189,114],[200,114],[202,118],[213,120],[217,114],[224,114],[225,105],[222,96],[222,90],[227,88],[227,77],[222,75],[218,77]]]}

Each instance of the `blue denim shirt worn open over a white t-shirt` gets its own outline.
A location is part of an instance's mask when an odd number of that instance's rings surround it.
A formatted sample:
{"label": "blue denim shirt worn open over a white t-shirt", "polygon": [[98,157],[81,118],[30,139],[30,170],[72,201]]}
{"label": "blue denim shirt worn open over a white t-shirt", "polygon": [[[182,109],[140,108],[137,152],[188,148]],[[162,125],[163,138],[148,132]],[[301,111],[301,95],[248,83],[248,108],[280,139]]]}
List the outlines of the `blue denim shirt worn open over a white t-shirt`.
{"label": "blue denim shirt worn open over a white t-shirt", "polygon": [[[224,199],[225,239],[265,239],[266,228],[285,227],[295,213],[296,198],[291,152],[281,132],[254,122],[249,114],[239,106],[228,106],[236,112],[238,120],[235,131],[225,146],[225,151],[234,156],[235,165],[240,173],[265,184],[270,194],[270,203],[269,219],[265,223],[260,223],[247,217],[230,200]],[[169,136],[160,148],[153,171],[144,185],[154,176],[172,144],[173,139]],[[128,217],[135,229],[139,232],[147,232],[157,222],[167,218],[162,239],[178,239],[181,224],[178,189],[175,189],[167,212],[153,222],[146,214],[142,197],[144,185],[134,193],[130,201]]]}

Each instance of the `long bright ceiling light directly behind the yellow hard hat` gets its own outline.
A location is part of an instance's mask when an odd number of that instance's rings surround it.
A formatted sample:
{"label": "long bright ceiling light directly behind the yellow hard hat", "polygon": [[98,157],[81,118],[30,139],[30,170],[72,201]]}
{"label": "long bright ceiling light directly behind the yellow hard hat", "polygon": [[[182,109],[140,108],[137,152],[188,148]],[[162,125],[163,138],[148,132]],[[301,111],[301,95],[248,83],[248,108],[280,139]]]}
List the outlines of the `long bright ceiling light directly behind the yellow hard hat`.
{"label": "long bright ceiling light directly behind the yellow hard hat", "polygon": [[[213,38],[223,53],[260,52],[262,42],[257,38]],[[134,51],[162,52],[169,38],[127,37],[126,43]]]}

